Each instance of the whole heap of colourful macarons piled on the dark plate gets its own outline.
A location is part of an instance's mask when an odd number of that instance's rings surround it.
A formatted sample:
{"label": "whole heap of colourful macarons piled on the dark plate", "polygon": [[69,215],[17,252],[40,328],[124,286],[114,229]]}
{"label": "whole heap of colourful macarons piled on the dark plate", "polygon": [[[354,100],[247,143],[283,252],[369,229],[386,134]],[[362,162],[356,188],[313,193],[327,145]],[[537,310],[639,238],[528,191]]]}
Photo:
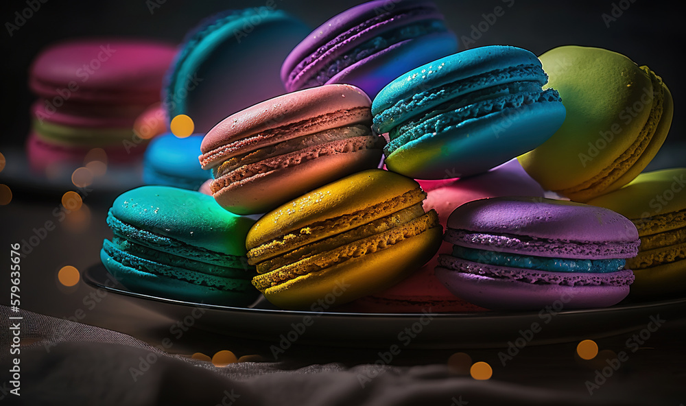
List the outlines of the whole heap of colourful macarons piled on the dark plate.
{"label": "whole heap of colourful macarons piled on the dark plate", "polygon": [[145,176],[201,193],[117,198],[102,261],[126,287],[371,312],[606,307],[635,278],[683,292],[686,204],[644,207],[681,171],[630,182],[673,114],[650,69],[584,47],[456,52],[427,0],[369,1],[307,32],[268,8],[189,32],[163,106],[204,135],[152,143]]}

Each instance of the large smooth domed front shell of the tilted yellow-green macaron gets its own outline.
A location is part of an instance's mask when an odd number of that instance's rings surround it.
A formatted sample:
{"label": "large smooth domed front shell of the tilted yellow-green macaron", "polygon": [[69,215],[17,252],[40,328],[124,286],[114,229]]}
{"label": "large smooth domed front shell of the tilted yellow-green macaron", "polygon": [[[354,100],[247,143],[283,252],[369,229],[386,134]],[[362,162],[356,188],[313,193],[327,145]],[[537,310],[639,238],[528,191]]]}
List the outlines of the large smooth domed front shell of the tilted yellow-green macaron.
{"label": "large smooth domed front shell of the tilted yellow-green macaron", "polygon": [[[519,160],[544,189],[568,189],[611,167],[637,140],[653,105],[653,86],[632,60],[606,49],[558,47],[539,59],[549,76],[547,87],[560,93],[567,118],[549,141]],[[632,117],[624,110],[635,104],[641,110]],[[613,126],[619,132],[608,143],[602,134]],[[593,156],[589,142],[606,146]]]}

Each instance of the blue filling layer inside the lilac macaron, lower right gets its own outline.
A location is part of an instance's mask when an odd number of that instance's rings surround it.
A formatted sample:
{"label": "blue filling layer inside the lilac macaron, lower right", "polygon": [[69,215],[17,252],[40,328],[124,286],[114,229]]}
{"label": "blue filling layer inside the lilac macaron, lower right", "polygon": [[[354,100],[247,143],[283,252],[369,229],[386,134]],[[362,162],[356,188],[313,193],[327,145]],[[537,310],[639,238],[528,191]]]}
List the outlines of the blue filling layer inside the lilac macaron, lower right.
{"label": "blue filling layer inside the lilac macaron, lower right", "polygon": [[453,256],[476,263],[545,272],[606,273],[624,269],[624,259],[565,259],[477,250],[453,246]]}

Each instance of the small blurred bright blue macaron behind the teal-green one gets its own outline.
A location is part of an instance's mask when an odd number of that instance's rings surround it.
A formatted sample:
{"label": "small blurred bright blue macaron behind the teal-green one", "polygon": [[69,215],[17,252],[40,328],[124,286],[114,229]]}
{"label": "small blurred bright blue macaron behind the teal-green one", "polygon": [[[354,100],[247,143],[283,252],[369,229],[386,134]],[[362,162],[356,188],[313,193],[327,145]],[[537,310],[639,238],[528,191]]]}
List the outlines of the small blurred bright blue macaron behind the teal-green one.
{"label": "small blurred bright blue macaron behind the teal-green one", "polygon": [[150,141],[143,158],[143,182],[197,191],[212,177],[198,163],[202,134],[178,138],[170,132]]}

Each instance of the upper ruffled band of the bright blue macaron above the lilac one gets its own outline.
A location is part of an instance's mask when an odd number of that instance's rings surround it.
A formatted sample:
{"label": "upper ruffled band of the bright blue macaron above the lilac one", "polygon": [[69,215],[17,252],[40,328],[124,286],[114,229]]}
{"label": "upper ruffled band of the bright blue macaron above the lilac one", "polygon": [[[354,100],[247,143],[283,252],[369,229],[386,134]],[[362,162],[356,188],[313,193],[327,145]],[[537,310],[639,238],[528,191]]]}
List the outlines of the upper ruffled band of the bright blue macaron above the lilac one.
{"label": "upper ruffled band of the bright blue macaron above the lilac one", "polygon": [[[445,67],[445,62],[434,69],[440,71],[443,67]],[[431,73],[434,73],[431,69],[425,72],[428,75]],[[407,79],[412,80],[417,75],[418,73],[409,76]],[[528,86],[530,91],[540,91],[541,86],[546,82],[547,75],[543,68],[537,65],[521,64],[507,69],[496,69],[405,97],[381,111],[372,109],[372,114],[374,114],[372,128],[379,134],[389,132],[397,126],[397,123],[412,120],[413,117],[418,117],[422,113],[440,108],[439,106],[445,104],[447,100],[455,103],[464,97],[462,106],[469,106],[471,102],[467,101],[473,98],[471,97],[472,94],[477,95],[484,90],[488,94],[488,88],[497,88],[510,83],[529,83],[531,84]],[[494,83],[497,85],[494,86]],[[474,101],[478,101],[478,99],[475,98]]]}

